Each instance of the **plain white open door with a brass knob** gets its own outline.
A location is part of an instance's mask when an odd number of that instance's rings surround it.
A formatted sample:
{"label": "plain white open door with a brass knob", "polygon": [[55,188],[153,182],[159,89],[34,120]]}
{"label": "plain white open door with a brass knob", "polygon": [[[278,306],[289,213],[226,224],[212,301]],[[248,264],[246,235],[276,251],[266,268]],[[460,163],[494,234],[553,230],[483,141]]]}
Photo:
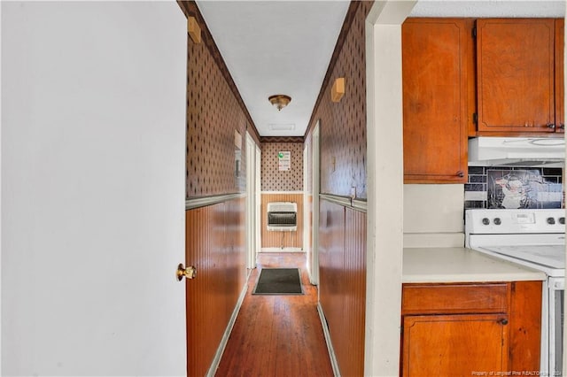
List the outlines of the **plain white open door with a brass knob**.
{"label": "plain white open door with a brass knob", "polygon": [[185,373],[175,2],[2,2],[2,374]]}

